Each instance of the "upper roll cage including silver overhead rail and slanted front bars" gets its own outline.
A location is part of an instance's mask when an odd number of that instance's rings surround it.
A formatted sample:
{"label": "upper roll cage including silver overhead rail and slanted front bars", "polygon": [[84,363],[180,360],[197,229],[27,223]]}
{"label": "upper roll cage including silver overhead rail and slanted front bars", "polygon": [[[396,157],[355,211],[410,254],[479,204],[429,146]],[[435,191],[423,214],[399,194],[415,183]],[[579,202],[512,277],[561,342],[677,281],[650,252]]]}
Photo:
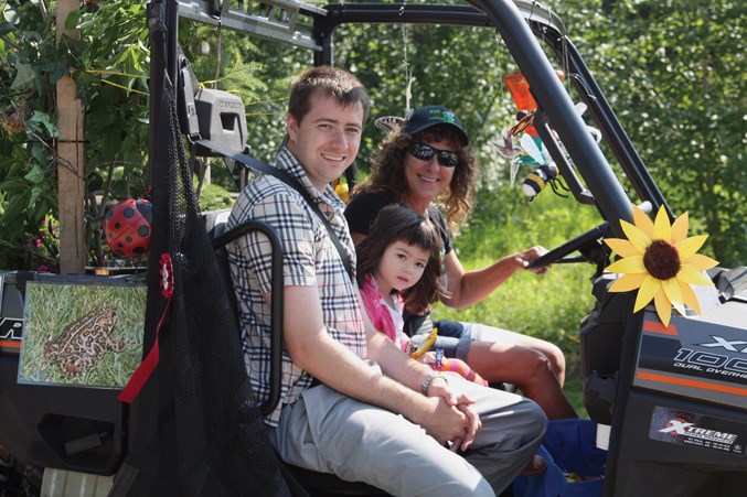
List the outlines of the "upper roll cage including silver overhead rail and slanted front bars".
{"label": "upper roll cage including silver overhead rail and slanted front bars", "polygon": [[[153,6],[157,3],[153,2]],[[598,123],[641,202],[649,202],[653,209],[663,205],[670,217],[673,217],[601,89],[575,45],[566,36],[561,19],[538,1],[491,0],[470,3],[471,6],[344,3],[320,9],[286,0],[234,0],[222,4],[217,0],[179,0],[178,15],[311,50],[314,65],[333,65],[334,30],[343,24],[408,23],[493,28],[502,36],[532,94],[540,96],[543,101],[534,126],[574,197],[585,204],[595,204],[604,219],[630,219],[630,199],[597,144],[587,139],[588,133],[583,132],[585,123],[574,111],[574,102],[565,88],[559,82],[548,77],[554,68],[537,43],[537,40],[542,40],[564,64],[572,84],[588,106],[593,119]],[[158,66],[154,64],[151,67]],[[175,76],[175,67],[173,75]],[[557,140],[549,131],[551,122],[574,158],[576,168],[569,164],[557,148]],[[581,184],[576,169],[588,188]],[[591,192],[605,192],[605,195],[597,195],[596,198]],[[618,226],[612,226],[611,229],[618,236],[621,235]]]}

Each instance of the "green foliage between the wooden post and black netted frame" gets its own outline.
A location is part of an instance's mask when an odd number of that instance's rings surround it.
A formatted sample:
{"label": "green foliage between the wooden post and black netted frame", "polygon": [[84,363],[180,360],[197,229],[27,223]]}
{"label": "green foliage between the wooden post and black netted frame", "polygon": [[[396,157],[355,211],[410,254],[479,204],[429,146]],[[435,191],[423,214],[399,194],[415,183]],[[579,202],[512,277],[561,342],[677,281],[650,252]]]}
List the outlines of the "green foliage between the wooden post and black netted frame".
{"label": "green foliage between the wooden post and black netted frame", "polygon": [[[142,196],[130,191],[134,175],[142,175],[148,153],[148,30],[145,4],[102,2],[95,12],[78,12],[73,77],[86,107],[86,170],[108,176],[121,168],[115,198]],[[104,193],[104,192],[100,192]]]}

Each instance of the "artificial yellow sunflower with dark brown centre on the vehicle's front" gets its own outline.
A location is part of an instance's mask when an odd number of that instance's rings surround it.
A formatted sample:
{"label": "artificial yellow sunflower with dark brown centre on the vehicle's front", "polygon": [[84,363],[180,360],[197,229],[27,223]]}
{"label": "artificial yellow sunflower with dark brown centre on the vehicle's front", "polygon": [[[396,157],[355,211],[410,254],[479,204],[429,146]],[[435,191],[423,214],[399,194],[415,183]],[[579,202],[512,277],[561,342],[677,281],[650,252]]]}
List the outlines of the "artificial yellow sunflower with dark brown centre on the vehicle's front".
{"label": "artificial yellow sunflower with dark brown centre on the vehicle's front", "polygon": [[651,223],[643,210],[633,205],[633,223],[620,219],[625,238],[605,239],[622,259],[607,267],[608,271],[622,273],[610,292],[628,292],[638,289],[633,312],[638,312],[651,302],[657,314],[669,326],[672,307],[684,314],[687,305],[701,314],[701,305],[691,284],[713,284],[701,274],[718,262],[707,256],[696,253],[708,238],[698,235],[687,238],[687,213],[670,225],[669,216],[662,206],[657,219]]}

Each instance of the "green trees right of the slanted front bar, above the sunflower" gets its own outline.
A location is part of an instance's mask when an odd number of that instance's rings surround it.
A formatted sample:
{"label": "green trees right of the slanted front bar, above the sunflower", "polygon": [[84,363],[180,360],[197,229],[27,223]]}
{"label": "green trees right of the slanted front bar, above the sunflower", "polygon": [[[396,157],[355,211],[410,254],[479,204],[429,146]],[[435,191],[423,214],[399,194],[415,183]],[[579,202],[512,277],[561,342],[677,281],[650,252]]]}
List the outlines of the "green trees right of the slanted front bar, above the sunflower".
{"label": "green trees right of the slanted front bar, above the sunflower", "polygon": [[551,3],[674,213],[723,266],[747,263],[743,2]]}

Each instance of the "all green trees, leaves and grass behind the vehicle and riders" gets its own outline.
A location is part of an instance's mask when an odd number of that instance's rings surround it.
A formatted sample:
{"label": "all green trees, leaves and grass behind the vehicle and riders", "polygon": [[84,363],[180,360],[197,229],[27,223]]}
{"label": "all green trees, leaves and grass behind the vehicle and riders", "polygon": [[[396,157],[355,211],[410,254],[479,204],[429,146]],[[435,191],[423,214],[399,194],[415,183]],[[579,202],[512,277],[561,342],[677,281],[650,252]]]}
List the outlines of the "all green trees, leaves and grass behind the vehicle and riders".
{"label": "all green trees, leaves and grass behind the vehicle and riders", "polygon": [[[690,213],[691,233],[711,235],[706,253],[727,267],[745,264],[744,2],[548,0],[547,6],[564,20],[674,213]],[[0,268],[54,269],[55,174],[65,166],[54,153],[54,85],[65,74],[77,83],[85,108],[90,263],[104,263],[111,257],[100,238],[106,207],[147,195],[146,2],[82,1],[67,19],[81,40],[60,45],[54,1],[0,0]],[[180,41],[203,85],[242,97],[253,153],[271,160],[284,134],[288,83],[312,64],[311,53],[190,22],[181,23]],[[562,61],[554,62],[562,68]],[[531,245],[554,247],[600,222],[593,207],[549,191],[529,203],[509,184],[509,161],[493,143],[514,122],[502,78],[516,67],[494,31],[350,25],[335,34],[335,64],[370,88],[373,118],[439,102],[465,121],[481,166],[478,205],[457,241],[468,269]],[[358,161],[363,173],[382,138],[374,126],[366,128]],[[221,164],[211,170],[213,185],[203,190],[202,206],[228,205],[222,187],[231,190],[232,182]],[[542,277],[522,273],[458,316],[542,336],[577,364],[578,323],[593,302],[591,272],[558,266]],[[437,312],[457,317],[450,310]],[[577,383],[573,390],[578,393]]]}

